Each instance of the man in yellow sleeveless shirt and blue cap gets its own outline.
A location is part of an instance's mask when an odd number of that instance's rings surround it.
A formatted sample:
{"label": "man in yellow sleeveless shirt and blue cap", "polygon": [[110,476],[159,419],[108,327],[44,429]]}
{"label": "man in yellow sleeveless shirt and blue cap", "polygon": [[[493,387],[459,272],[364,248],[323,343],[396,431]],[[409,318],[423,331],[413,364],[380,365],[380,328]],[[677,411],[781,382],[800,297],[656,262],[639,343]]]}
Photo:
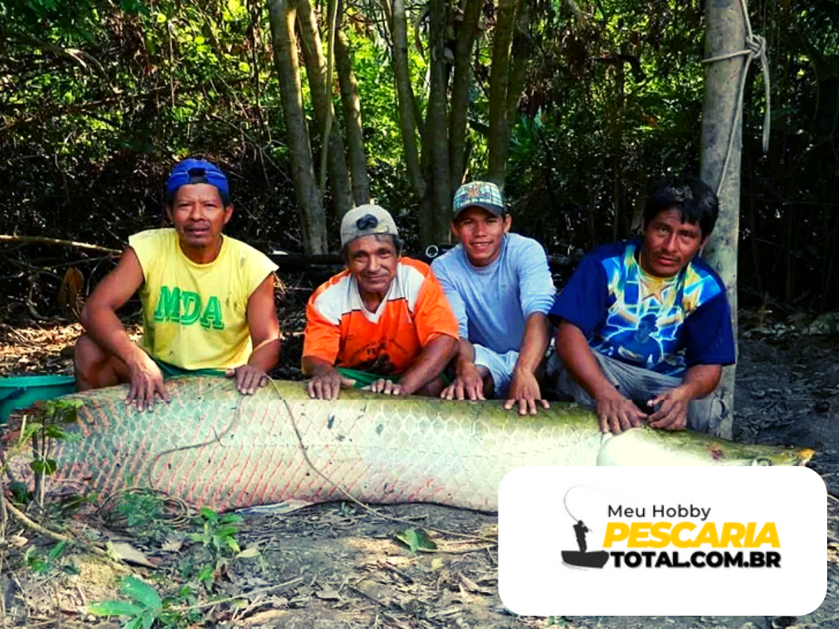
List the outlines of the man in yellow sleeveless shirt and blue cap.
{"label": "man in yellow sleeveless shirt and blue cap", "polygon": [[[227,177],[214,164],[185,159],[172,169],[166,216],[174,227],[130,237],[81,313],[80,391],[128,382],[126,403],[150,410],[156,395],[169,401],[164,375],[217,370],[235,377],[246,395],[268,382],[266,372],[279,357],[277,266],[221,233],[232,213]],[[137,291],[139,346],[116,314]]]}

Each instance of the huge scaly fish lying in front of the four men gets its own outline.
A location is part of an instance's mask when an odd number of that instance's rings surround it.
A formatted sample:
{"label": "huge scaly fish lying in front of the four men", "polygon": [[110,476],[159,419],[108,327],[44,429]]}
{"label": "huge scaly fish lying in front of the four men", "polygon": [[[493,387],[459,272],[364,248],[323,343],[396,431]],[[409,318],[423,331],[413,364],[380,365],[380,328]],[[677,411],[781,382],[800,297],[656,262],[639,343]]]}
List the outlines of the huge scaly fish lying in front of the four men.
{"label": "huge scaly fish lying in front of the four men", "polygon": [[48,489],[151,487],[216,511],[347,494],[497,511],[499,483],[521,465],[804,465],[812,455],[687,431],[604,436],[591,410],[567,403],[521,418],[497,402],[357,391],[312,400],[300,382],[254,396],[224,378],[170,380],[167,390],[171,402],[153,413],[126,406],[126,387],[70,396],[84,403],[70,427],[80,438],[53,444]]}

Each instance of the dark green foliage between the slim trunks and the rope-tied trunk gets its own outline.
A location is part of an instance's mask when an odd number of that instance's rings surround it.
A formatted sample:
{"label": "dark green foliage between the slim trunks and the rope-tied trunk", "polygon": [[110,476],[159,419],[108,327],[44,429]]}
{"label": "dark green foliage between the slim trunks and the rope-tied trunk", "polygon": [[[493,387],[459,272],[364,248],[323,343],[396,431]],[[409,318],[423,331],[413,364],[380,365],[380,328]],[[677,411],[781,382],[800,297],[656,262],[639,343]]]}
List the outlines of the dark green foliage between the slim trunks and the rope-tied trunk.
{"label": "dark green foliage between the slim trunks and the rope-tied trunk", "polygon": [[625,237],[650,178],[699,169],[701,10],[602,3],[585,24],[550,13],[538,36],[508,192],[555,247]]}

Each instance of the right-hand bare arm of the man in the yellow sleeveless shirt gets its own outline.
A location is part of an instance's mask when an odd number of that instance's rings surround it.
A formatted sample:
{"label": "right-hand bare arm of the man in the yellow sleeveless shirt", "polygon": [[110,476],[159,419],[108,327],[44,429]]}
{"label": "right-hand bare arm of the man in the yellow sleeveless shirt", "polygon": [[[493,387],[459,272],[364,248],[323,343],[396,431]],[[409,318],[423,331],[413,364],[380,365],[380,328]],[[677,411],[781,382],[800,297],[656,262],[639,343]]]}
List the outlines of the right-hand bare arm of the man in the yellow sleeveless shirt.
{"label": "right-hand bare arm of the man in the yellow sleeveless shirt", "polygon": [[274,308],[274,274],[259,284],[248,298],[248,329],[253,352],[248,363],[227,370],[228,377],[236,377],[236,388],[244,395],[253,395],[258,387],[268,383],[266,374],[279,359],[279,322]]}

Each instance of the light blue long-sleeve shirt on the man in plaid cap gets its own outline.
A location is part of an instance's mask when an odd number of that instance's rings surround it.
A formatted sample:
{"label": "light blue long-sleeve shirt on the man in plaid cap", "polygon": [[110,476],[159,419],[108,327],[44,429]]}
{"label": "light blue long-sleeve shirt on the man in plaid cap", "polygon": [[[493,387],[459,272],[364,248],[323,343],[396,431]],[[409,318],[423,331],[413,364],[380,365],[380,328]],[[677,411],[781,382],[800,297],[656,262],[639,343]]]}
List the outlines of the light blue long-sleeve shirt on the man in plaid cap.
{"label": "light blue long-sleeve shirt on the man in plaid cap", "polygon": [[507,234],[501,255],[488,267],[473,267],[457,245],[431,263],[459,334],[499,354],[519,351],[531,314],[547,314],[556,289],[545,249],[532,238]]}

